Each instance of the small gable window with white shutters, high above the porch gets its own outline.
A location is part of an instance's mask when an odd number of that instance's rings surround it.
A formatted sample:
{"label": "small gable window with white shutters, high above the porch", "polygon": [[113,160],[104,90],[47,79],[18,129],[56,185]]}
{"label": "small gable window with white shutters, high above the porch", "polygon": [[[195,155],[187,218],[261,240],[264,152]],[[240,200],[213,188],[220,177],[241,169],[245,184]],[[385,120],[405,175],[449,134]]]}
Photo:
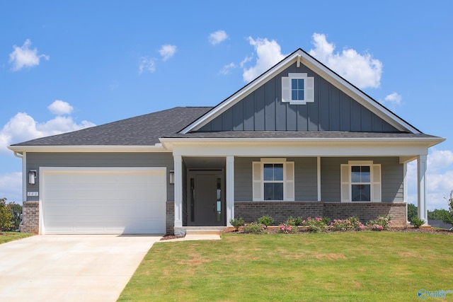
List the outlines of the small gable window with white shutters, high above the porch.
{"label": "small gable window with white shutters, high above the porch", "polygon": [[314,102],[314,77],[307,74],[282,76],[282,102],[305,105]]}

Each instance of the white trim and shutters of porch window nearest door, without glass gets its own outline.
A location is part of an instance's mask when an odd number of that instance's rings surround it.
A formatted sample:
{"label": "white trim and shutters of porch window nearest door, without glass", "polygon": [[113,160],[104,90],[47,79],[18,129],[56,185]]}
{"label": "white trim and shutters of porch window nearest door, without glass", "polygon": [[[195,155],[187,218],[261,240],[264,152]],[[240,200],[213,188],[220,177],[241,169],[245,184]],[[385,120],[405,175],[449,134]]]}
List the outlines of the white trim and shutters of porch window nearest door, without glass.
{"label": "white trim and shutters of porch window nearest door, without glass", "polygon": [[[265,200],[263,168],[265,163],[283,164],[283,200]],[[252,162],[252,194],[254,202],[294,202],[294,161],[286,161],[286,158],[260,158],[260,161]]]}

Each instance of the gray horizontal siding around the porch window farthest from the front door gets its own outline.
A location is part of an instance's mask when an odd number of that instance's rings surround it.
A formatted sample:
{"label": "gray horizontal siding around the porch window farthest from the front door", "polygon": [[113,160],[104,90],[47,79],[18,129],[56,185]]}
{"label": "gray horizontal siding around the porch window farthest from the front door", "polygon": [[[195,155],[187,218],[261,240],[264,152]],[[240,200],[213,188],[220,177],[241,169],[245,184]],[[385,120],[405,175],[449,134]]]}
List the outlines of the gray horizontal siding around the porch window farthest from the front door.
{"label": "gray horizontal siding around the porch window farthest from the front door", "polygon": [[340,165],[348,161],[373,161],[381,165],[382,202],[404,202],[403,164],[398,157],[321,158],[321,200],[340,201]]}

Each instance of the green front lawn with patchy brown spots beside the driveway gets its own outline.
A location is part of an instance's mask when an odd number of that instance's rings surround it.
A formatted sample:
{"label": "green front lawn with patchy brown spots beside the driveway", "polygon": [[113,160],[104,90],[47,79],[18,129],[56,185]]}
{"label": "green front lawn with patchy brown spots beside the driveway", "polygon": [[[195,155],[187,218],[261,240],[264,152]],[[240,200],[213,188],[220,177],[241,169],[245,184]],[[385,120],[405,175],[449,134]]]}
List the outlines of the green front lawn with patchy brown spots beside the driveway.
{"label": "green front lawn with patchy brown spots beside the driveway", "polygon": [[156,243],[118,301],[419,301],[419,289],[453,290],[452,246],[385,231]]}

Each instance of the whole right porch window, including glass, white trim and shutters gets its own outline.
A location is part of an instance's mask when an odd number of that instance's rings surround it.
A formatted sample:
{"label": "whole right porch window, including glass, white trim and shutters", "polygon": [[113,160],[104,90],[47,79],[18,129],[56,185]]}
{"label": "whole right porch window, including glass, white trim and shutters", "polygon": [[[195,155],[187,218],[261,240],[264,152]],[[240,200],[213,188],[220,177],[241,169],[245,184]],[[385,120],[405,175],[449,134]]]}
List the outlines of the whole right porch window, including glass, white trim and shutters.
{"label": "whole right porch window, including glass, white trim and shutters", "polygon": [[349,161],[341,165],[342,202],[380,202],[381,165],[372,161]]}

